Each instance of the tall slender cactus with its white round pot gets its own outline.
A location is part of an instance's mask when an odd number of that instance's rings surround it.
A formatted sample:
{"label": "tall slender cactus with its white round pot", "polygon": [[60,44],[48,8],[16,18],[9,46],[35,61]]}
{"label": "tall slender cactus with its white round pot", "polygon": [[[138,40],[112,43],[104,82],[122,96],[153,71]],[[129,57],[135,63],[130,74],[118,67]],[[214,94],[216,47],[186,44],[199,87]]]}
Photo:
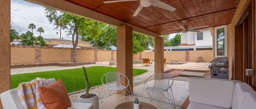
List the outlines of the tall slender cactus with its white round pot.
{"label": "tall slender cactus with its white round pot", "polygon": [[85,94],[82,94],[78,98],[78,102],[85,102],[85,103],[91,103],[93,104],[93,109],[99,108],[99,98],[98,95],[95,93],[89,93],[90,84],[88,82],[88,77],[86,73],[86,68],[82,67],[84,69],[84,76],[85,76]]}

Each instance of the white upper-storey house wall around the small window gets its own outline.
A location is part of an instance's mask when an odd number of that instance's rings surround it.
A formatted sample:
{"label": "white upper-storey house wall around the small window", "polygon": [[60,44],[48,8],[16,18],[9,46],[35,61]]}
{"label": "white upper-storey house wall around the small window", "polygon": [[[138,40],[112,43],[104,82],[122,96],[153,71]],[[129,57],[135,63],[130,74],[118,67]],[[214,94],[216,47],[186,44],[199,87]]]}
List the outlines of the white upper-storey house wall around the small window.
{"label": "white upper-storey house wall around the small window", "polygon": [[195,46],[212,46],[212,35],[210,29],[202,31],[203,40],[197,40],[197,33],[195,33]]}

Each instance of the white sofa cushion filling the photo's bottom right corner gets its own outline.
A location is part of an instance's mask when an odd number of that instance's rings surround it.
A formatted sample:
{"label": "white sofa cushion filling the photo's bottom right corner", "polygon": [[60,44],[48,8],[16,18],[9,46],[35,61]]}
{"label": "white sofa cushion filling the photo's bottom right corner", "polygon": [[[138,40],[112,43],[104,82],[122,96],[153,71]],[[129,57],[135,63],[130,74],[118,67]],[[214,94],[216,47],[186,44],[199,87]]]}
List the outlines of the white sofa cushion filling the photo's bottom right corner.
{"label": "white sofa cushion filling the photo's bottom right corner", "polygon": [[241,109],[255,109],[256,108],[256,92],[246,92],[243,99]]}

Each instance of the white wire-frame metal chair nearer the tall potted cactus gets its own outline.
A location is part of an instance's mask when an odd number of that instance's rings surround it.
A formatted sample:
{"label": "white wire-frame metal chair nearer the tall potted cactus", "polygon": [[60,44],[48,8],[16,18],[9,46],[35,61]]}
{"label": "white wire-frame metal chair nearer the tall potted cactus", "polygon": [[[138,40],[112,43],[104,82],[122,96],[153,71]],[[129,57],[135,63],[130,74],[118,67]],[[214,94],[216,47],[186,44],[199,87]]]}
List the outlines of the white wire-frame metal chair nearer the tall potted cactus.
{"label": "white wire-frame metal chair nearer the tall potted cactus", "polygon": [[[122,83],[126,83],[126,85],[122,85]],[[105,73],[102,76],[102,85],[105,88],[110,89],[111,91],[122,91],[123,94],[128,95],[128,97],[133,101],[132,88],[130,87],[130,82],[127,76],[119,72],[109,72]],[[128,89],[130,88],[130,89]],[[106,95],[102,91],[103,99],[102,99],[102,108],[105,103]]]}

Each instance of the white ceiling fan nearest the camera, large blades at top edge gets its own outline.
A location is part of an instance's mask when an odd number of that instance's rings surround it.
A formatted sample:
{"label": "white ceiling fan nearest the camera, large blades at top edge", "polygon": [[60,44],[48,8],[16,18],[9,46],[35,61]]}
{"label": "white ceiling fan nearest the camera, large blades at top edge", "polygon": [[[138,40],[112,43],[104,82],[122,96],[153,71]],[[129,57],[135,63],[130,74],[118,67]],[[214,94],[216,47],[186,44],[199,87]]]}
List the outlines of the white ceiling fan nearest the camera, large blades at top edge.
{"label": "white ceiling fan nearest the camera, large blades at top edge", "polygon": [[160,0],[117,0],[117,1],[105,1],[104,3],[116,3],[116,2],[129,2],[129,1],[140,1],[140,5],[138,9],[134,12],[133,17],[137,16],[142,8],[150,7],[151,5],[154,7],[166,9],[169,11],[175,11],[176,9]]}

